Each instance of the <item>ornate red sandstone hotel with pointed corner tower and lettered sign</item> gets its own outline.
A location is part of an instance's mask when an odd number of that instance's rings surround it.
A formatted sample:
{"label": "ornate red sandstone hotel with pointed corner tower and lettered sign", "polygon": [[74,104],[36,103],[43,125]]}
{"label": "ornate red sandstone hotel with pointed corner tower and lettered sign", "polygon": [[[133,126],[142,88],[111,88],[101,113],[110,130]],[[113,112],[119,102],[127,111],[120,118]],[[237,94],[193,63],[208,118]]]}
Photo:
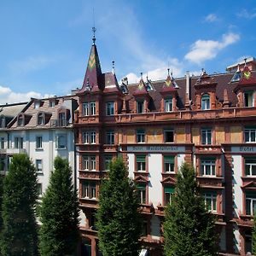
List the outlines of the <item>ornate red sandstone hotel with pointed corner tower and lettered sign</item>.
{"label": "ornate red sandstone hotel with pointed corner tower and lettered sign", "polygon": [[[238,67],[238,68],[237,68]],[[95,39],[77,90],[74,129],[82,211],[82,255],[100,255],[95,212],[109,161],[121,155],[137,183],[141,242],[162,255],[162,224],[179,166],[195,166],[209,211],[217,216],[219,251],[252,251],[256,209],[256,61],[229,73],[118,84],[102,73]],[[234,71],[235,68],[235,71]]]}

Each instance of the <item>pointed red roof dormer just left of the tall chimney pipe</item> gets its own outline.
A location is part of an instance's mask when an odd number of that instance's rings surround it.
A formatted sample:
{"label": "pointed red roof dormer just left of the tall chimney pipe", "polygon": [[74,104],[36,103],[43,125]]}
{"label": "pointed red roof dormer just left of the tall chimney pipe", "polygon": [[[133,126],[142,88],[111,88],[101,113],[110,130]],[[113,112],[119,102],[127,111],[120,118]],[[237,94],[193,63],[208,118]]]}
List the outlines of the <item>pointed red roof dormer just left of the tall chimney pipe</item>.
{"label": "pointed red roof dormer just left of the tall chimney pipe", "polygon": [[170,70],[168,68],[166,81],[160,90],[162,96],[160,104],[161,112],[172,112],[177,110],[177,88],[177,83],[175,79],[170,76]]}

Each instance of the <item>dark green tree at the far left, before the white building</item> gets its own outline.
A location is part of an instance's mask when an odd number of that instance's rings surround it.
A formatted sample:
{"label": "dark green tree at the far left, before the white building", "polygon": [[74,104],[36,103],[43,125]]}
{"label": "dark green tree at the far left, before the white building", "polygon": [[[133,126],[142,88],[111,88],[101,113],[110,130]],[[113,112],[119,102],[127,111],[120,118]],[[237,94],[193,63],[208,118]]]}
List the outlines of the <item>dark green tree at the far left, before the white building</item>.
{"label": "dark green tree at the far left, before the white building", "polygon": [[26,154],[15,154],[3,180],[3,256],[37,255],[37,174]]}

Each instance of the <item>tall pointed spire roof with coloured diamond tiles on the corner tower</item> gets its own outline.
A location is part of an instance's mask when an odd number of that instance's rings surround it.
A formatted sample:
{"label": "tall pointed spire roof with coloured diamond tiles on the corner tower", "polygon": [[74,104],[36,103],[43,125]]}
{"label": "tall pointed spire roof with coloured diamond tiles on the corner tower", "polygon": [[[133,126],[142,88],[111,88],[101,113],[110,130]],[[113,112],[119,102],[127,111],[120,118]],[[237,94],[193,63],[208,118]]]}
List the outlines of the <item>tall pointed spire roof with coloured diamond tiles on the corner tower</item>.
{"label": "tall pointed spire roof with coloured diamond tiles on the corner tower", "polygon": [[91,90],[91,91],[99,91],[99,90],[104,90],[104,84],[101,84],[101,77],[102,77],[102,68],[100,64],[100,59],[98,55],[98,51],[96,48],[96,38],[95,38],[95,32],[96,28],[92,28],[93,32],[93,38],[92,42],[93,44],[91,45],[90,49],[90,56],[84,76],[84,83],[82,86],[82,89],[79,91],[80,93],[86,91],[86,90]]}

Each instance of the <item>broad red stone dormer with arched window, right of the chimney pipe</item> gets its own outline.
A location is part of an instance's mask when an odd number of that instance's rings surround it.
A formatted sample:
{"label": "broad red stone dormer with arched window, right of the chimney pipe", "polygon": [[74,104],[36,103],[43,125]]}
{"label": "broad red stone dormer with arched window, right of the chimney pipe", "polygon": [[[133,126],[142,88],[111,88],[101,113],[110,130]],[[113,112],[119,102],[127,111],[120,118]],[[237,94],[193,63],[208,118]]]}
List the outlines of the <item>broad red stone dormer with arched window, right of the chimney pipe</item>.
{"label": "broad red stone dormer with arched window, right of the chimney pipe", "polygon": [[216,86],[214,78],[202,70],[201,76],[195,83],[195,102],[192,109],[208,110],[220,108],[221,104],[216,99]]}

